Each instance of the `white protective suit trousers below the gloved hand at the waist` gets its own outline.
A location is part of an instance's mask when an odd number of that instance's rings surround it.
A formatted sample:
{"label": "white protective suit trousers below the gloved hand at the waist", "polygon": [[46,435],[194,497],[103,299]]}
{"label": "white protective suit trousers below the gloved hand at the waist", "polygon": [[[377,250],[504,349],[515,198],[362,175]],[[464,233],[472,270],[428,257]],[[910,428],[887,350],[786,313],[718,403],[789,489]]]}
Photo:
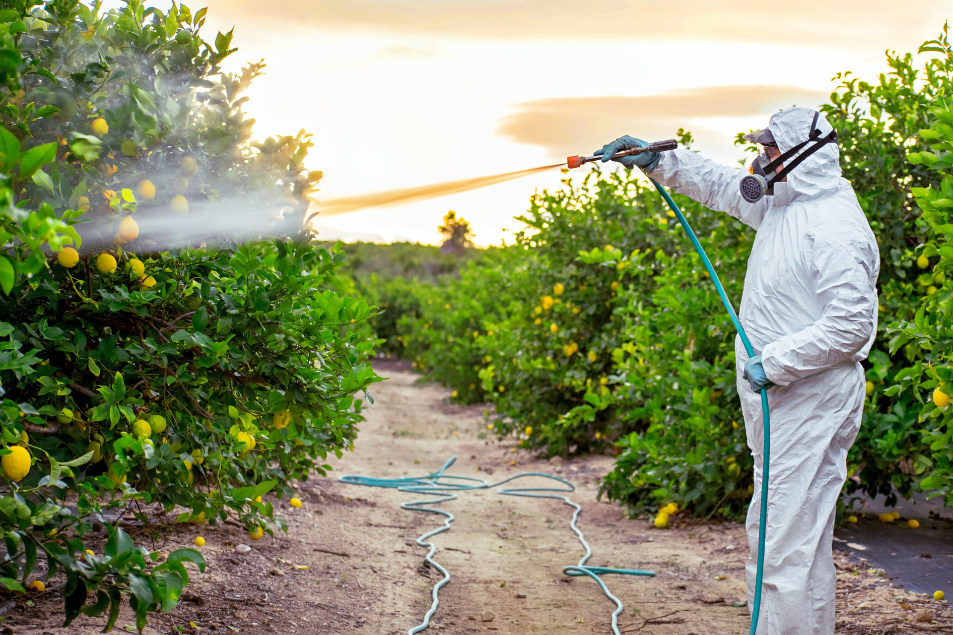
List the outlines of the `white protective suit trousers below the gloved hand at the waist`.
{"label": "white protective suit trousers below the gloved hand at the waist", "polygon": [[[847,450],[861,427],[864,388],[863,369],[856,364],[768,391],[771,462],[758,635],[834,633],[834,514],[847,476]],[[751,547],[745,566],[751,609],[758,567],[764,427],[760,395],[743,379],[739,393],[755,459],[755,490],[745,523]]]}

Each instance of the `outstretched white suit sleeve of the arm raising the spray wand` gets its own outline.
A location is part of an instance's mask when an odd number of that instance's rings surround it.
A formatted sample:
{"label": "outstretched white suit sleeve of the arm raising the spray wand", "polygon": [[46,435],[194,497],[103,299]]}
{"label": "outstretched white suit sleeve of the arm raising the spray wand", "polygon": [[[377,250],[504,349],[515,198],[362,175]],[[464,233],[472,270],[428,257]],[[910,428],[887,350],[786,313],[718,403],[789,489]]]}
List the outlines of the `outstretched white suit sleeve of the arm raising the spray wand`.
{"label": "outstretched white suit sleeve of the arm raising the spray wand", "polygon": [[743,169],[722,166],[692,150],[679,148],[662,152],[655,169],[646,173],[666,188],[706,208],[734,216],[755,229],[760,227],[769,205],[767,196],[757,203],[741,198],[739,184],[745,175]]}

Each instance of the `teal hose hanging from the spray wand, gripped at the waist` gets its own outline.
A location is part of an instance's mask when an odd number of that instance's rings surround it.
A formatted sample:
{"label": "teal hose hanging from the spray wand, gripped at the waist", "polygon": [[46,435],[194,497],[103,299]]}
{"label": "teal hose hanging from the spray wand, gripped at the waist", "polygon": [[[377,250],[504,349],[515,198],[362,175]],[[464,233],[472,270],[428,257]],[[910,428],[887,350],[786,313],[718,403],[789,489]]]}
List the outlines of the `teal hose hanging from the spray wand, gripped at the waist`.
{"label": "teal hose hanging from the spray wand, gripped at the waist", "polygon": [[[668,204],[668,207],[675,212],[675,216],[679,219],[681,227],[684,228],[685,233],[688,234],[688,239],[692,241],[692,246],[699,252],[701,262],[708,270],[708,275],[711,276],[712,282],[715,283],[715,288],[718,289],[721,303],[724,305],[724,308],[727,309],[731,321],[735,324],[735,328],[738,329],[741,344],[744,345],[748,357],[753,356],[755,350],[751,347],[748,334],[744,332],[744,327],[741,326],[738,314],[735,312],[735,308],[731,306],[731,301],[728,300],[728,296],[724,292],[724,287],[721,286],[721,281],[719,280],[718,273],[715,272],[715,268],[712,267],[712,262],[708,260],[708,255],[705,253],[705,250],[701,248],[698,236],[695,235],[695,231],[692,230],[692,227],[685,219],[685,215],[681,213],[681,209],[675,204],[675,201],[672,200],[669,193],[662,188],[655,179],[650,177],[649,180],[652,181],[652,185],[659,190],[659,194],[665,199],[665,203]],[[761,505],[760,521],[758,523],[758,574],[755,576],[755,602],[751,607],[751,629],[748,631],[748,635],[755,635],[758,631],[758,616],[761,608],[761,580],[764,577],[764,536],[768,517],[768,466],[771,464],[771,415],[768,412],[767,388],[761,388],[761,414],[764,421],[764,465],[761,468]]]}

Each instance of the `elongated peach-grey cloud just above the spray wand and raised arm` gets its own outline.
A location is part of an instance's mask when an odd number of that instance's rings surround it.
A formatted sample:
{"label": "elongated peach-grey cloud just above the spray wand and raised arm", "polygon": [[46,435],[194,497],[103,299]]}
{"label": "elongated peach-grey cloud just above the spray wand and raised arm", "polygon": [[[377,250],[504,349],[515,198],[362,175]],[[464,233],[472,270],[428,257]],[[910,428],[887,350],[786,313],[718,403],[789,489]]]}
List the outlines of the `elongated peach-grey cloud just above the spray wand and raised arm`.
{"label": "elongated peach-grey cloud just above the spray wand and raised arm", "polygon": [[543,147],[560,158],[588,154],[623,134],[670,139],[684,128],[698,137],[698,127],[704,128],[706,119],[763,116],[766,124],[768,115],[778,109],[814,108],[827,97],[820,91],[785,86],[715,86],[641,97],[537,99],[517,104],[513,114],[500,120],[497,134]]}

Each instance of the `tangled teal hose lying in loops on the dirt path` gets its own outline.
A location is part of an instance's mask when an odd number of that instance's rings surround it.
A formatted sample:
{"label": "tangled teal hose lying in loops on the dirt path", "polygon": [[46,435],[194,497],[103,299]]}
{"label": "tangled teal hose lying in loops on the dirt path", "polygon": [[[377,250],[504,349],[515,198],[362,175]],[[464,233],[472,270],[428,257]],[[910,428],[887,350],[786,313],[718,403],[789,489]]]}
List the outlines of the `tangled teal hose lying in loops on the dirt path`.
{"label": "tangled teal hose lying in loops on the dirt path", "polygon": [[[582,556],[582,559],[579,560],[578,565],[566,566],[563,567],[562,572],[568,576],[589,576],[599,585],[599,588],[602,589],[602,592],[605,593],[605,596],[616,603],[616,610],[612,613],[612,632],[614,635],[619,635],[618,632],[618,614],[622,612],[622,602],[612,594],[609,590],[609,587],[605,585],[604,582],[599,578],[599,575],[604,575],[607,573],[615,573],[619,575],[650,575],[654,576],[655,571],[642,571],[639,569],[617,569],[607,566],[586,566],[586,562],[592,557],[593,550],[589,546],[589,543],[586,542],[585,536],[582,535],[582,531],[576,525],[576,522],[579,517],[579,512],[582,511],[582,506],[579,506],[578,503],[570,500],[568,494],[570,492],[576,491],[576,487],[572,483],[564,479],[560,479],[558,476],[553,476],[552,474],[544,474],[542,472],[523,472],[522,474],[517,474],[516,476],[511,476],[508,479],[504,479],[498,483],[491,484],[489,481],[484,479],[476,479],[468,476],[453,476],[450,474],[444,474],[448,467],[454,465],[456,461],[456,456],[450,457],[445,464],[443,464],[440,469],[432,474],[427,476],[417,476],[411,478],[399,478],[399,479],[379,479],[370,476],[359,476],[356,474],[345,474],[340,477],[342,483],[350,483],[351,485],[359,486],[371,486],[371,487],[390,487],[398,491],[413,492],[415,494],[437,494],[436,498],[428,499],[425,501],[406,501],[400,504],[402,509],[410,509],[412,511],[425,511],[427,513],[439,514],[444,517],[443,525],[437,527],[433,531],[428,531],[419,538],[416,539],[417,546],[429,547],[427,556],[424,558],[424,561],[436,568],[440,573],[443,574],[443,579],[440,582],[434,585],[434,590],[432,592],[433,602],[431,603],[430,609],[424,614],[423,622],[419,625],[416,625],[407,631],[407,635],[414,635],[414,633],[419,633],[421,630],[424,630],[430,625],[430,619],[433,617],[436,612],[436,607],[440,604],[438,593],[440,587],[446,585],[450,582],[450,573],[447,572],[443,566],[440,566],[434,560],[434,554],[436,553],[436,545],[434,543],[427,542],[433,536],[436,536],[439,533],[443,533],[450,529],[450,524],[454,522],[456,517],[449,511],[444,511],[443,509],[436,509],[430,507],[431,505],[436,505],[439,503],[445,503],[447,501],[453,501],[456,499],[457,491],[468,491],[473,489],[492,489],[515,481],[517,479],[526,478],[529,476],[536,476],[539,478],[552,479],[557,481],[564,487],[505,487],[499,489],[500,494],[506,496],[525,496],[528,498],[555,498],[563,501],[566,505],[574,507],[573,518],[569,523],[570,528],[576,532],[578,536],[579,543],[585,548],[586,553]],[[549,493],[546,493],[549,492]]]}

